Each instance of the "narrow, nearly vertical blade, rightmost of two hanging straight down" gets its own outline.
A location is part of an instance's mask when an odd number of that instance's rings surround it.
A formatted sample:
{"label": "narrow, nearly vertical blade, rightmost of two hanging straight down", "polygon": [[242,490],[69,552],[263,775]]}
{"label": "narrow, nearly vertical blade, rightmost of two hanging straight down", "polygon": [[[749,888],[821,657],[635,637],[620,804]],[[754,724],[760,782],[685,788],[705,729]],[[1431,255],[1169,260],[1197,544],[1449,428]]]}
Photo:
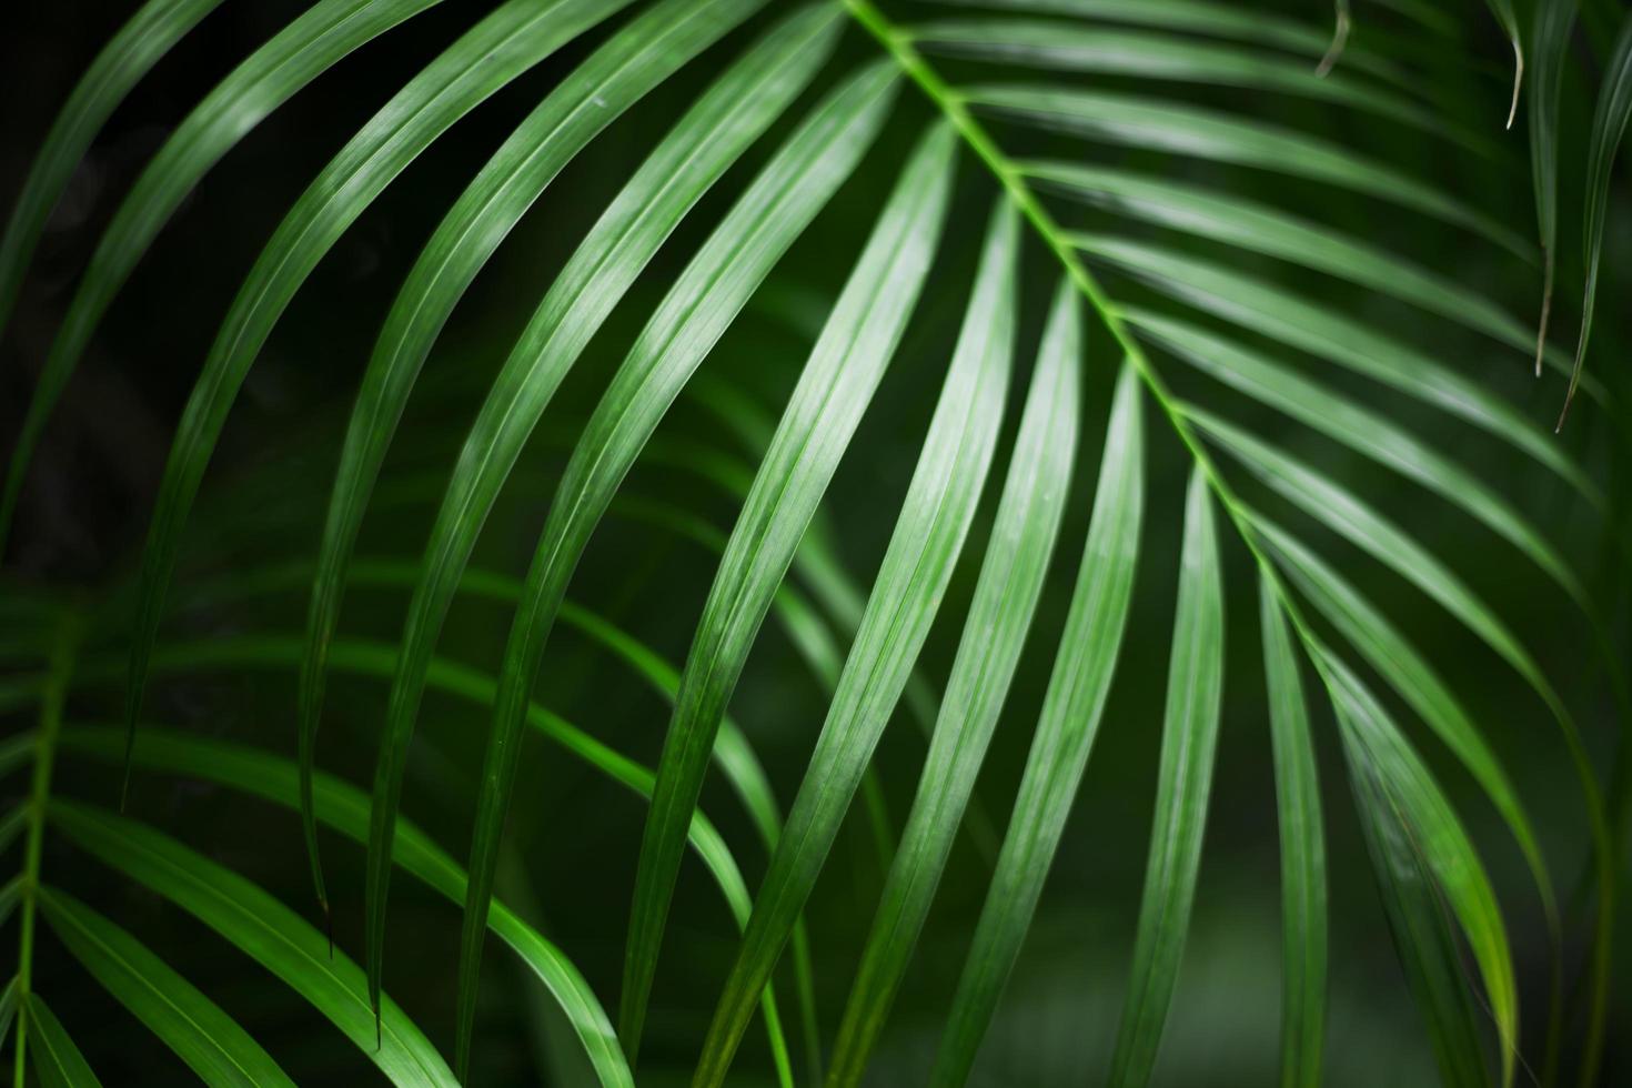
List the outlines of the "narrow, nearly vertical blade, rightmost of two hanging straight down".
{"label": "narrow, nearly vertical blade, rightmost of two hanging straight down", "polygon": [[1327,997],[1327,879],[1320,780],[1309,705],[1275,589],[1258,582],[1263,670],[1281,832],[1281,1088],[1322,1081]]}

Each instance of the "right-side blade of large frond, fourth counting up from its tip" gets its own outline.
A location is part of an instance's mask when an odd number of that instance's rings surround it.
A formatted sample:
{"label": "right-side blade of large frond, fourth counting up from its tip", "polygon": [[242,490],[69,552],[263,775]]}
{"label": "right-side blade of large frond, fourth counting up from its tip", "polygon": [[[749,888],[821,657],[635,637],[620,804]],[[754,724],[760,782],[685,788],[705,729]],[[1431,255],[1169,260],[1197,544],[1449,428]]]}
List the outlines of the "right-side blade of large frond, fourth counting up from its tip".
{"label": "right-side blade of large frond, fourth counting up from its tip", "polygon": [[1575,571],[1542,537],[1541,529],[1472,471],[1405,427],[1330,387],[1302,377],[1291,367],[1198,325],[1144,312],[1133,312],[1128,316],[1139,329],[1154,334],[1157,343],[1198,370],[1392,468],[1462,509],[1469,517],[1483,522],[1529,556],[1581,608],[1591,608]]}

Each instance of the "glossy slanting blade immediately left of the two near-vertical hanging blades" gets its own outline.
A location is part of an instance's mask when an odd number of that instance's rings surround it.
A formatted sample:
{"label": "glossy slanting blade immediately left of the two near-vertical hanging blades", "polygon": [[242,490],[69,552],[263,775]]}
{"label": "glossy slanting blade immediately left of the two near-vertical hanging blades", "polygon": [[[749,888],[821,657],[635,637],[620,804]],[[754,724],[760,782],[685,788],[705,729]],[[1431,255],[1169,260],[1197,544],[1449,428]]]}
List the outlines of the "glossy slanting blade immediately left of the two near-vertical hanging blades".
{"label": "glossy slanting blade immediately left of the two near-vertical hanging blades", "polygon": [[955,1088],[968,1080],[997,998],[1031,927],[1110,693],[1133,597],[1142,511],[1139,375],[1131,364],[1123,364],[1071,613],[1054,656],[997,871],[940,1039],[930,1075],[935,1088]]}

